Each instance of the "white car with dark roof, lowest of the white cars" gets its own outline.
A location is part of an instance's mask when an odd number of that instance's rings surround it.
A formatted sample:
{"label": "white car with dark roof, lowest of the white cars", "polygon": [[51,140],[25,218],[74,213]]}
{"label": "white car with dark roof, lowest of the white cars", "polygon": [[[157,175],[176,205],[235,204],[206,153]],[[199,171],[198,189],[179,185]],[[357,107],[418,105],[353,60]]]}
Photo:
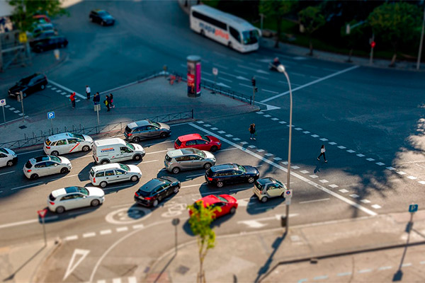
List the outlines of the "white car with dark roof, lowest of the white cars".
{"label": "white car with dark roof, lowest of the white cars", "polygon": [[54,190],[47,198],[51,212],[62,213],[79,207],[97,207],[105,200],[105,192],[98,187],[64,187]]}

